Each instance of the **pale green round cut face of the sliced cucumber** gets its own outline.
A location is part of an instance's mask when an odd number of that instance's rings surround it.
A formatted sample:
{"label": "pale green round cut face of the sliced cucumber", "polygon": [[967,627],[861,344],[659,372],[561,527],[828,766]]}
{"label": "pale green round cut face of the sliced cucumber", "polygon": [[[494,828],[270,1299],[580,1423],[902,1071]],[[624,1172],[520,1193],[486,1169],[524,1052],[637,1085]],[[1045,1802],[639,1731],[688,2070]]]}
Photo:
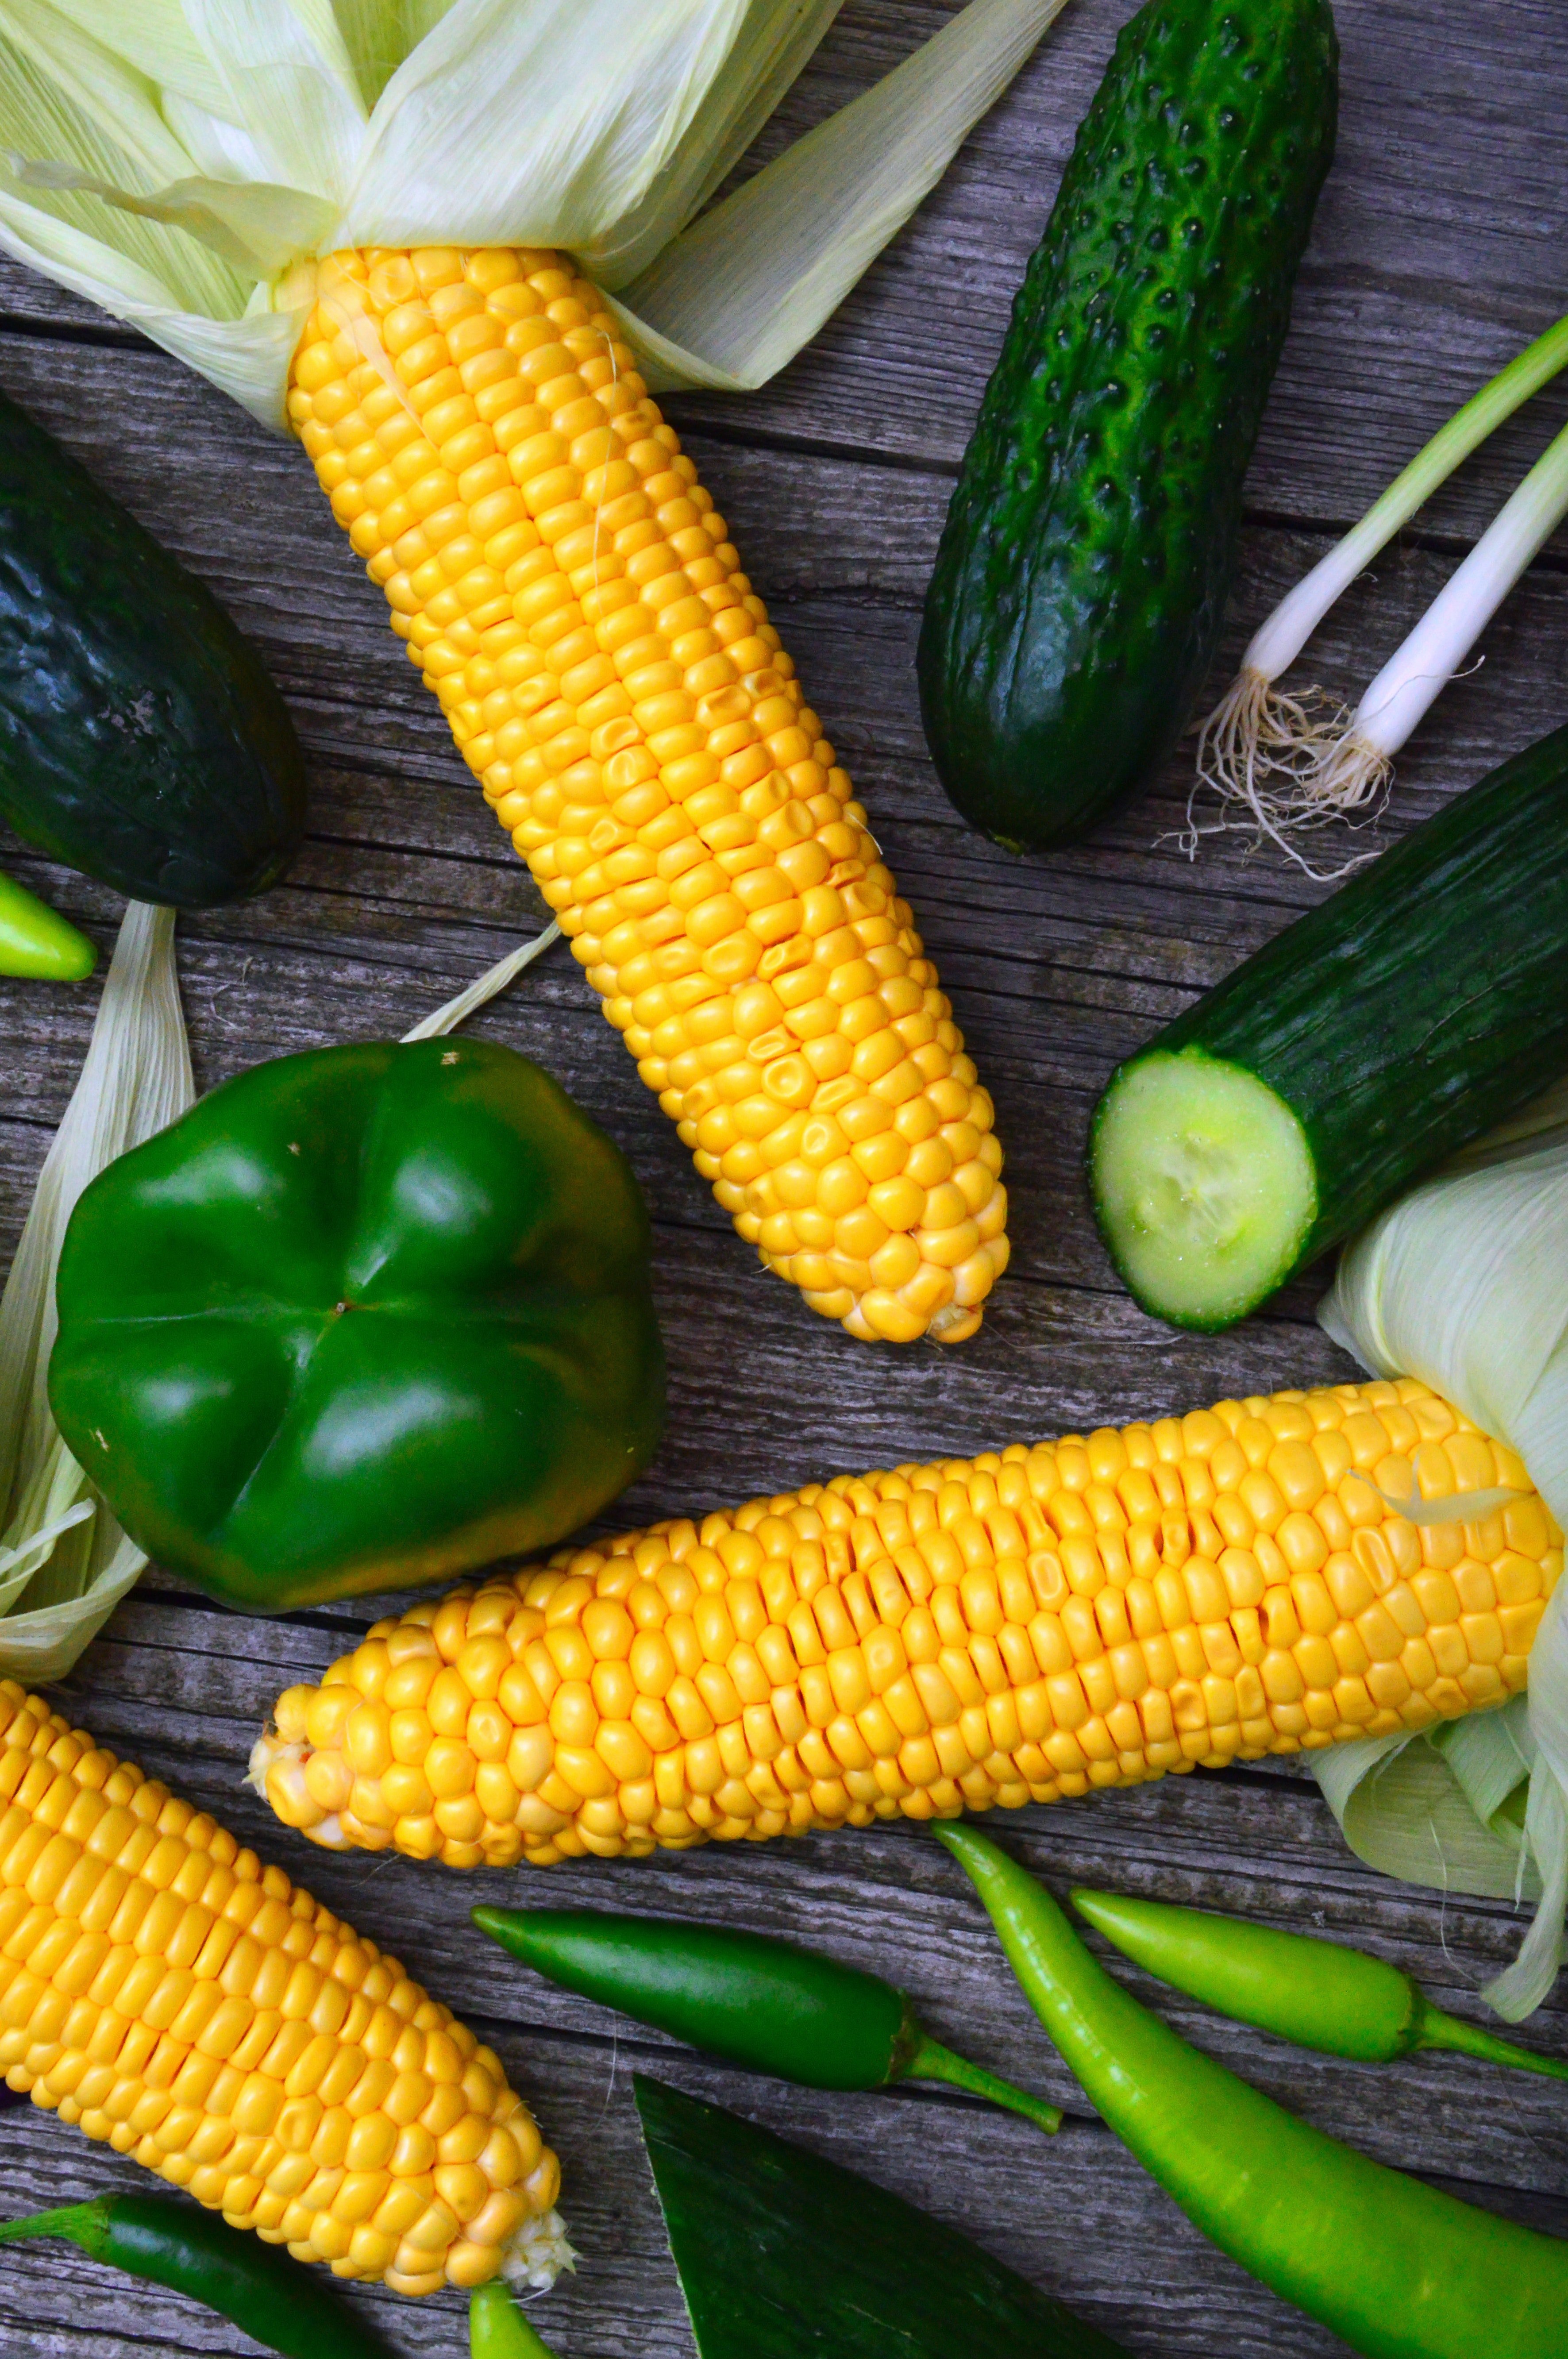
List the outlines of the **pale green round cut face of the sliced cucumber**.
{"label": "pale green round cut face of the sliced cucumber", "polygon": [[1207,1050],[1155,1050],[1111,1080],[1089,1149],[1094,1208],[1129,1293],[1172,1326],[1243,1319],[1294,1269],[1318,1182],[1297,1113]]}

